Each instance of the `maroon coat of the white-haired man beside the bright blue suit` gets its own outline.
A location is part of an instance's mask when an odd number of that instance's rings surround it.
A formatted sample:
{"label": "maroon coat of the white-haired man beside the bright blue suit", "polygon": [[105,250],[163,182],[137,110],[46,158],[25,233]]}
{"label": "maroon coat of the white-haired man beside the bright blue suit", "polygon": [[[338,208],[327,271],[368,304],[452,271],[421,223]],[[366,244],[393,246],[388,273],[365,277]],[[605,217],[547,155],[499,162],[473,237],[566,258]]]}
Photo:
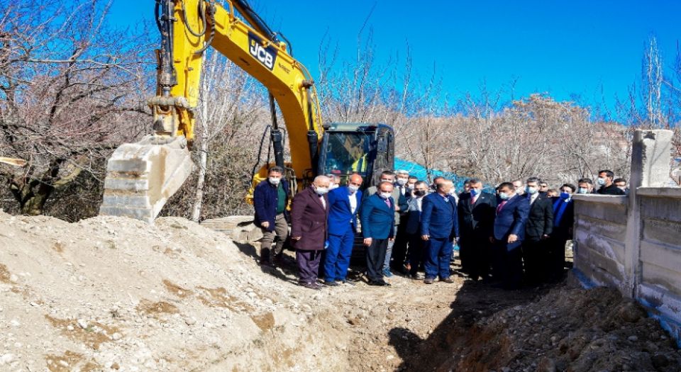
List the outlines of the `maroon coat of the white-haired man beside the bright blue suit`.
{"label": "maroon coat of the white-haired man beside the bright blue suit", "polygon": [[291,240],[295,249],[319,251],[326,242],[326,220],[328,218],[328,196],[323,196],[326,208],[311,187],[299,192],[293,198],[291,207]]}

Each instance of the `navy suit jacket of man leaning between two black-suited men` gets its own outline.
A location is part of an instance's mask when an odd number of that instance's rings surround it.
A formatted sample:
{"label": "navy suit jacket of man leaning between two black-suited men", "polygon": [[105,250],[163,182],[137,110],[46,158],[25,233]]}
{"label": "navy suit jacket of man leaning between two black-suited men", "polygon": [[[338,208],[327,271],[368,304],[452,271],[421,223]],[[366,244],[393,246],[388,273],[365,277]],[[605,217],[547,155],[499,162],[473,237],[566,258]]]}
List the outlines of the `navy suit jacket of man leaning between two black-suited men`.
{"label": "navy suit jacket of man leaning between two black-suited men", "polygon": [[504,204],[502,210],[494,218],[494,239],[506,241],[509,235],[516,235],[518,240],[513,244],[508,244],[507,249],[511,250],[520,247],[525,239],[525,224],[530,212],[530,203],[527,198],[514,195]]}

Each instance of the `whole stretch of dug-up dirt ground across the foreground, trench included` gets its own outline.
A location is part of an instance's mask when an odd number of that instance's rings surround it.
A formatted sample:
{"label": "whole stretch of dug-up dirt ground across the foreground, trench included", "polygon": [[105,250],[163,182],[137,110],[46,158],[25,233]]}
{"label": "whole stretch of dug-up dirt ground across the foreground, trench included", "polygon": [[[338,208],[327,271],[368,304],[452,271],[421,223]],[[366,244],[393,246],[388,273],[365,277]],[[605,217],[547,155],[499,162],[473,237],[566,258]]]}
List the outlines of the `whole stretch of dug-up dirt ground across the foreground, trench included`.
{"label": "whole stretch of dug-up dirt ground across the foreground, trench included", "polygon": [[294,274],[180,218],[0,213],[0,371],[681,371],[675,342],[606,289],[311,291]]}

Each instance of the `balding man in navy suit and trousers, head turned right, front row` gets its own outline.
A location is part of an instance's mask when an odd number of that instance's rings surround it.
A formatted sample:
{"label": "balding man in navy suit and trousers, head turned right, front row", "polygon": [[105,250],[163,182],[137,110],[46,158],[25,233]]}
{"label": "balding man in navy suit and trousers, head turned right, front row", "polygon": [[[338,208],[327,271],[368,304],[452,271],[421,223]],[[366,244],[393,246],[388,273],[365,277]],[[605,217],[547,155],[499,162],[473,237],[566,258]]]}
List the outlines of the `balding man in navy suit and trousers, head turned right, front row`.
{"label": "balding man in navy suit and trousers, head turned right, front row", "polygon": [[440,281],[453,283],[449,262],[454,249],[453,241],[459,235],[456,218],[456,201],[450,196],[452,181],[436,184],[436,192],[423,198],[421,205],[421,239],[426,241],[426,278],[423,283],[432,284],[436,276]]}

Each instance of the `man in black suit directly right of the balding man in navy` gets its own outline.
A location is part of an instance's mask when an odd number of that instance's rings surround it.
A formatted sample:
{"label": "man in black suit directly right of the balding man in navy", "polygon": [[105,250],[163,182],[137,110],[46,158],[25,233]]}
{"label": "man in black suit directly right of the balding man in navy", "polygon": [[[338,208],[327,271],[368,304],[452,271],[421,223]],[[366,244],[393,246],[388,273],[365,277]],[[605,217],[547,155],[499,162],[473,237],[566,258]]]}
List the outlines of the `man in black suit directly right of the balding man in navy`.
{"label": "man in black suit directly right of the balding man in navy", "polygon": [[462,193],[458,204],[459,257],[463,271],[469,278],[487,279],[489,276],[491,247],[489,237],[494,227],[497,197],[482,192],[482,181],[470,179],[468,192]]}

